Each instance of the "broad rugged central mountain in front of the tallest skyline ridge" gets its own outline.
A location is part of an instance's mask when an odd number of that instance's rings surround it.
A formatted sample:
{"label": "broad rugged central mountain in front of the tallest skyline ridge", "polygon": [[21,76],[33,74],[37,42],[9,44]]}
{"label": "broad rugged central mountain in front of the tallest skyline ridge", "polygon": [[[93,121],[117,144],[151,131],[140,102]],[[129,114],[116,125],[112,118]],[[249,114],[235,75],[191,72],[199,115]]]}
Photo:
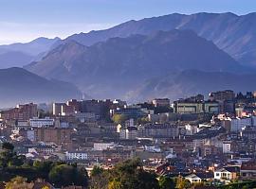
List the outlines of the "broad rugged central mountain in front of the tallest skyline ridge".
{"label": "broad rugged central mountain in front of the tallest skyline ridge", "polygon": [[246,67],[214,43],[192,30],[176,29],[110,38],[91,46],[68,41],[50,51],[43,60],[27,65],[26,69],[42,77],[72,82],[82,92],[97,98],[128,97],[128,100],[136,100],[129,94],[139,91],[137,88],[149,79],[170,73],[191,69],[247,72]]}

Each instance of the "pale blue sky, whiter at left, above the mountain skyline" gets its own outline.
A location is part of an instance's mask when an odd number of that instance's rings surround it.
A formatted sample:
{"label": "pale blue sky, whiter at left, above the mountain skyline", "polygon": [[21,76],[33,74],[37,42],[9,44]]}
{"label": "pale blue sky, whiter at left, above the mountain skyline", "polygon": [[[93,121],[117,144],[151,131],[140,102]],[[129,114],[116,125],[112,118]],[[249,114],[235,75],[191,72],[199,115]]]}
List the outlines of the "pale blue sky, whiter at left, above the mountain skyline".
{"label": "pale blue sky, whiter at left, above the mountain skyline", "polygon": [[256,11],[256,0],[0,0],[0,44],[65,38],[174,12]]}

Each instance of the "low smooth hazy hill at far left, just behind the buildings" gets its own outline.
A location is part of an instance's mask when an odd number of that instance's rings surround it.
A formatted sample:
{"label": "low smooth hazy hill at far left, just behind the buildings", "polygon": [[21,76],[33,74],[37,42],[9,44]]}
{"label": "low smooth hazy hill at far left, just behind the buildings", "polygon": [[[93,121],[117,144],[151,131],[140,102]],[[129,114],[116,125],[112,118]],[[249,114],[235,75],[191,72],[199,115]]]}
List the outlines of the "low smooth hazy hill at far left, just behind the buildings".
{"label": "low smooth hazy hill at far left, just behind the buildings", "polygon": [[82,98],[76,86],[56,79],[46,79],[22,68],[0,69],[1,108],[19,103],[64,101]]}

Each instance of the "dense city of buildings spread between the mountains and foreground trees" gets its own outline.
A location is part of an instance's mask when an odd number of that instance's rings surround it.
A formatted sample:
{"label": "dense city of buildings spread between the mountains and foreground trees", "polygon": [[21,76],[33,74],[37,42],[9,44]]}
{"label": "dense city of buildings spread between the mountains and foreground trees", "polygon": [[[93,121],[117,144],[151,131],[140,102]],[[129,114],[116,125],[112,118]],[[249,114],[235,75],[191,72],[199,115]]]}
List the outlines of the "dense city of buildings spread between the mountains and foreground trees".
{"label": "dense city of buildings spread between the mountains and foreground trees", "polygon": [[2,141],[28,159],[90,169],[138,157],[145,169],[191,182],[256,180],[256,94],[26,104],[0,112]]}

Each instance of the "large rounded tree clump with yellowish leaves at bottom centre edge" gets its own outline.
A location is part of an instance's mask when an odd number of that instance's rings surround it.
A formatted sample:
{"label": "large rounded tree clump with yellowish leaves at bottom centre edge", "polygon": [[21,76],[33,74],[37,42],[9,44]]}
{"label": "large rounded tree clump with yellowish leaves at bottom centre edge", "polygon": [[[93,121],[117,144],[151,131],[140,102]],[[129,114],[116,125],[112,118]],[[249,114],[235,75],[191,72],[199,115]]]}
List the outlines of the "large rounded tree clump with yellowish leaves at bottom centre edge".
{"label": "large rounded tree clump with yellowish leaves at bottom centre edge", "polygon": [[139,160],[128,160],[118,163],[111,170],[94,167],[90,188],[158,189],[159,185],[155,173],[143,170]]}

